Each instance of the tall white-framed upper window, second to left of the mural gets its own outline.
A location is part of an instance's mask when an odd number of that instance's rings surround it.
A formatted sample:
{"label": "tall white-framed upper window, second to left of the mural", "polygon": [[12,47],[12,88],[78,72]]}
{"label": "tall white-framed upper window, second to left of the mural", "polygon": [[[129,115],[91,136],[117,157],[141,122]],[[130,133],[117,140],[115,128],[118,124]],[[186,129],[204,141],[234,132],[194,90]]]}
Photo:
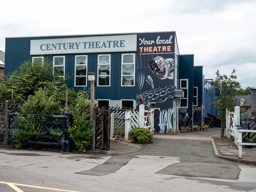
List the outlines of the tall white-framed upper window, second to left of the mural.
{"label": "tall white-framed upper window, second to left of the mural", "polygon": [[98,85],[110,86],[110,54],[98,55]]}

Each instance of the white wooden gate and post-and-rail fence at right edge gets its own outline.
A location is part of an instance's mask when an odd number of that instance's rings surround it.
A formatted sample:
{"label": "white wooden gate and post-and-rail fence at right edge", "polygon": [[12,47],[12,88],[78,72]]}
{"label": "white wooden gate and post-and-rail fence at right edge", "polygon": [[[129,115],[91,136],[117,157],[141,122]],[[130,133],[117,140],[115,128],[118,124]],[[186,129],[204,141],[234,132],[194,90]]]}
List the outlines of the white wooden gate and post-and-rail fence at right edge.
{"label": "white wooden gate and post-and-rail fence at right edge", "polygon": [[230,135],[234,136],[235,144],[238,147],[238,157],[242,158],[242,146],[243,145],[252,145],[256,146],[256,143],[243,143],[242,142],[242,133],[250,132],[256,133],[256,130],[251,129],[242,129],[240,126],[240,107],[235,107],[235,112],[229,112],[226,110],[226,136],[227,138]]}

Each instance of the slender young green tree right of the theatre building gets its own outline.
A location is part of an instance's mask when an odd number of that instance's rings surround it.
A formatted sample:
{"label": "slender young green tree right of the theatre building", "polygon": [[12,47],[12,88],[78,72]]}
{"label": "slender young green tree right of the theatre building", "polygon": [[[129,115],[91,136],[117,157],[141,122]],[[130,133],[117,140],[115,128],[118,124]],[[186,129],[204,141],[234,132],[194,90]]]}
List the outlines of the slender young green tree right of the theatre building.
{"label": "slender young green tree right of the theatre building", "polygon": [[214,88],[219,95],[219,100],[211,103],[210,105],[215,105],[216,109],[219,110],[217,118],[221,120],[221,137],[224,136],[226,109],[229,111],[234,111],[234,107],[237,106],[237,103],[235,99],[232,98],[232,95],[235,95],[235,92],[240,89],[241,86],[240,83],[236,81],[237,76],[235,74],[235,69],[233,69],[229,77],[227,75],[221,75],[219,70],[216,72]]}

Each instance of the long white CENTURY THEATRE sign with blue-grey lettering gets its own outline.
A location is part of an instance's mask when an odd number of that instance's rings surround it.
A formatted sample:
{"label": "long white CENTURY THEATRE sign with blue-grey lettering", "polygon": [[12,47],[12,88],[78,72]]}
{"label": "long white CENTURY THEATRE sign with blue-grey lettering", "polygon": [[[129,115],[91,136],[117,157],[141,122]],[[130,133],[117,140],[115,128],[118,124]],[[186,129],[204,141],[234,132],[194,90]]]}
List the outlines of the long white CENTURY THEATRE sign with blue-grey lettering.
{"label": "long white CENTURY THEATRE sign with blue-grey lettering", "polygon": [[124,52],[137,50],[137,35],[38,39],[30,41],[31,55]]}

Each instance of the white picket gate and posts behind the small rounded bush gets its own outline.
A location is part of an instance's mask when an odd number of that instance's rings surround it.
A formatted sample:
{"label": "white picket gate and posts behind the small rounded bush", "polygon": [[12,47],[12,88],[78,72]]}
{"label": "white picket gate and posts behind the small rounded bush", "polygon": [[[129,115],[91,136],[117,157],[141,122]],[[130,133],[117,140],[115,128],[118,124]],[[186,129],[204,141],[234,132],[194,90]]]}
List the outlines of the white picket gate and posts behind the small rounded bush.
{"label": "white picket gate and posts behind the small rounded bush", "polygon": [[[145,110],[144,105],[139,106],[139,112],[125,111],[125,139],[129,139],[129,132],[135,127],[144,127],[154,131],[154,109]],[[110,138],[114,136],[114,114],[111,114]]]}

